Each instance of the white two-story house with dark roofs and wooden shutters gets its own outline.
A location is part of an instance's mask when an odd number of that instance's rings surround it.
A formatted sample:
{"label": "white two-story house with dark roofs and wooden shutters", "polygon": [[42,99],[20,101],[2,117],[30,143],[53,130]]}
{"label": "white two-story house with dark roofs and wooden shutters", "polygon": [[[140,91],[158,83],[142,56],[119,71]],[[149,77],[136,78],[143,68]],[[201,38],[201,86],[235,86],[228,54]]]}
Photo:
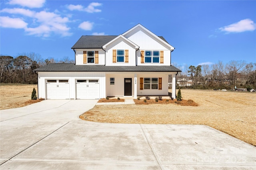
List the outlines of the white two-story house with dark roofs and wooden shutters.
{"label": "white two-story house with dark roofs and wooden shutters", "polygon": [[47,64],[34,70],[38,98],[164,96],[168,95],[169,74],[175,98],[180,70],[171,65],[174,47],[140,24],[118,36],[82,36],[72,49],[75,64]]}

